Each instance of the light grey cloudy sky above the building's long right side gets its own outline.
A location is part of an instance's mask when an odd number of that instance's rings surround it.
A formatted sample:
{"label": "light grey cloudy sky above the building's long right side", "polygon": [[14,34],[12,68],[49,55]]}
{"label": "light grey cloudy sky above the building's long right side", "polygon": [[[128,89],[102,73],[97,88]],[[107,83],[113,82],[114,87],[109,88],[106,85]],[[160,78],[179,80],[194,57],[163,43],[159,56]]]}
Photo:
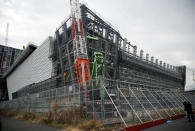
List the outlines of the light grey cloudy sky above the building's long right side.
{"label": "light grey cloudy sky above the building's long right side", "polygon": [[87,0],[87,3],[145,53],[170,64],[194,66],[194,1]]}

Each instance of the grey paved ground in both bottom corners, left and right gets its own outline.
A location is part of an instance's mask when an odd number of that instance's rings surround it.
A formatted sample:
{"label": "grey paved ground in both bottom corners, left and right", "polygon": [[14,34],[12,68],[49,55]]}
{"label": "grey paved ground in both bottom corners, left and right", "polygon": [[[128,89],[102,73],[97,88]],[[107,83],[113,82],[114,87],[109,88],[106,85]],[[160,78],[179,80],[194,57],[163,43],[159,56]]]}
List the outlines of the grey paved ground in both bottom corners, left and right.
{"label": "grey paved ground in both bottom corners, left and right", "polygon": [[[33,124],[24,120],[1,118],[2,130],[0,131],[60,131],[46,125]],[[188,122],[187,118],[178,119],[171,123],[145,129],[144,131],[195,131],[195,122]]]}

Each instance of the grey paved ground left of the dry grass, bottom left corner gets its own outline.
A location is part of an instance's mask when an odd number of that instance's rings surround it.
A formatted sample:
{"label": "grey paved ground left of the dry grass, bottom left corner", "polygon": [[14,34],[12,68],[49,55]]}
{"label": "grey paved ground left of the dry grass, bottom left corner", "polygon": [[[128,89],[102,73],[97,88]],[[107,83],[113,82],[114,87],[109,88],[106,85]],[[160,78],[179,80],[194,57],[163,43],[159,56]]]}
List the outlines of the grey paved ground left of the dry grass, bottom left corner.
{"label": "grey paved ground left of the dry grass, bottom left corner", "polygon": [[2,130],[0,131],[60,131],[46,125],[33,124],[24,120],[15,120],[10,118],[1,118]]}

